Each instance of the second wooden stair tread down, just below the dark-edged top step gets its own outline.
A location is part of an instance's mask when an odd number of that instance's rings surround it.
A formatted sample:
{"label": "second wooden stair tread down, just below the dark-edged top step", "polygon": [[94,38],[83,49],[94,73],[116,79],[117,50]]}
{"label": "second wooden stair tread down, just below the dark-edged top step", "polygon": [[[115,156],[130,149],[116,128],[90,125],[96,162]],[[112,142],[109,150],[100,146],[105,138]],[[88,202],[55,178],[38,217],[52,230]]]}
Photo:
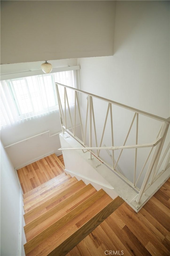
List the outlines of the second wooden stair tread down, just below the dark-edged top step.
{"label": "second wooden stair tread down, just below the dark-edged top step", "polygon": [[80,219],[80,221],[83,222],[83,219],[87,219],[87,215],[84,215],[84,212],[87,212],[87,209],[88,209],[88,215],[89,215],[89,212],[92,212],[92,210],[90,210],[89,208],[94,210],[95,208],[99,208],[100,203],[101,203],[101,207],[103,207],[104,204],[108,204],[111,201],[112,201],[112,198],[110,198],[102,189],[97,191],[94,195],[92,195],[86,201],[79,204],[77,207],[75,207],[69,213],[64,215],[58,221],[54,222],[51,226],[49,226],[45,230],[43,230],[36,237],[34,237],[30,241],[28,241],[24,245],[25,254],[32,251],[37,245],[42,243],[45,239],[47,239],[49,236],[51,236],[57,230],[60,230],[68,222],[74,221],[74,219],[77,219],[78,215],[83,214],[81,219]]}

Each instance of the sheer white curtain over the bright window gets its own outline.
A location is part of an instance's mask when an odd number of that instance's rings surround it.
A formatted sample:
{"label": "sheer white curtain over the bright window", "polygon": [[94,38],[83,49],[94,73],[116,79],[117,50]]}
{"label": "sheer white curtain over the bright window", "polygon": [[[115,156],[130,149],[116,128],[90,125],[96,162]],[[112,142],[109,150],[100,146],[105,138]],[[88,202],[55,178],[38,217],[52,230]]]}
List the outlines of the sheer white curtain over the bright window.
{"label": "sheer white curtain over the bright window", "polygon": [[[58,109],[55,82],[75,87],[74,71],[36,75],[1,81],[1,127],[25,122]],[[61,99],[63,87],[59,86]],[[69,104],[74,104],[72,90],[67,91]]]}

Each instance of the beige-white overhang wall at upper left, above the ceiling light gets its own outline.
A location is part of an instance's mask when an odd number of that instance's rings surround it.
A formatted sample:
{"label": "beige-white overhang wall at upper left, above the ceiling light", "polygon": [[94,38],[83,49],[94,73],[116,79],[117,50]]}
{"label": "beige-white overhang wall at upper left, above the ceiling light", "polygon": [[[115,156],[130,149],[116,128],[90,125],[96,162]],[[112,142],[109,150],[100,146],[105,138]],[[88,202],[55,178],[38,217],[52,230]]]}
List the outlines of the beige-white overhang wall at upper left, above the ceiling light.
{"label": "beige-white overhang wall at upper left, above the ceiling light", "polygon": [[113,54],[115,1],[1,1],[1,63]]}

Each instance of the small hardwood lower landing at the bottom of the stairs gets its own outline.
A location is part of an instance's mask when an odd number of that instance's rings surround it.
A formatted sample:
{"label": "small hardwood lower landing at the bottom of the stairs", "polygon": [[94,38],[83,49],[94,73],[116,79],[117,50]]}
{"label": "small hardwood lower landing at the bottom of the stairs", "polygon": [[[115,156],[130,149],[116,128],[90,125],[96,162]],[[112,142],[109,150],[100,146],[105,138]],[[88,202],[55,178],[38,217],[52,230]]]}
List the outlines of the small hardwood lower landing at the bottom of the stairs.
{"label": "small hardwood lower landing at the bottom of the stairs", "polygon": [[[58,159],[61,161],[58,161]],[[30,165],[17,170],[23,193],[40,186],[46,181],[64,172],[63,156],[56,154],[44,157]]]}

